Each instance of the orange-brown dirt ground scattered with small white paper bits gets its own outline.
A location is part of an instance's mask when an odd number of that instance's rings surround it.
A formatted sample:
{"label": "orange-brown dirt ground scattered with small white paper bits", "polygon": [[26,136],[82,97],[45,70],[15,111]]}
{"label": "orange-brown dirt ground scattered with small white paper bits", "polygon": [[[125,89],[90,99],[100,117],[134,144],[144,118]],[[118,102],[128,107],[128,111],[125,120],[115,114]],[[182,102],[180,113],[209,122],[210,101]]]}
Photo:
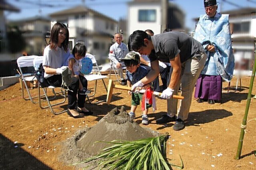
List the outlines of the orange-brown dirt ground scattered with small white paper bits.
{"label": "orange-brown dirt ground scattered with small white paper bits", "polygon": [[[114,78],[114,76],[112,76]],[[108,80],[105,80],[106,84]],[[192,100],[186,127],[174,131],[173,123],[157,125],[156,119],[166,113],[166,100],[156,99],[157,110],[149,110],[149,125],[141,124],[140,106],[136,110],[135,121],[142,127],[149,127],[160,133],[168,132],[167,155],[170,163],[180,164],[179,154],[186,170],[206,169],[256,169],[256,121],[250,121],[244,136],[240,160],[235,160],[240,135],[240,125],[245,112],[250,77],[242,78],[242,89],[235,93],[223,93],[222,102],[210,105]],[[89,82],[88,87],[93,87]],[[223,83],[224,87],[228,83]],[[234,92],[236,78],[231,81]],[[256,94],[256,81],[252,94]],[[0,169],[54,169],[72,170],[62,162],[61,153],[65,150],[62,143],[74,140],[74,134],[83,128],[94,126],[108,111],[124,106],[130,109],[130,97],[126,91],[113,90],[113,98],[108,106],[105,102],[98,105],[88,104],[86,108],[94,114],[80,119],[69,117],[67,113],[53,115],[49,109],[40,109],[21,97],[20,84],[17,83],[0,91]],[[32,90],[37,94],[37,88]],[[106,99],[102,82],[98,82],[92,102]],[[67,102],[54,107],[65,109]],[[248,120],[256,118],[256,99],[251,99]],[[95,134],[97,135],[97,134]],[[70,150],[72,152],[72,150]],[[68,154],[68,153],[67,153]],[[175,168],[174,168],[175,169]]]}

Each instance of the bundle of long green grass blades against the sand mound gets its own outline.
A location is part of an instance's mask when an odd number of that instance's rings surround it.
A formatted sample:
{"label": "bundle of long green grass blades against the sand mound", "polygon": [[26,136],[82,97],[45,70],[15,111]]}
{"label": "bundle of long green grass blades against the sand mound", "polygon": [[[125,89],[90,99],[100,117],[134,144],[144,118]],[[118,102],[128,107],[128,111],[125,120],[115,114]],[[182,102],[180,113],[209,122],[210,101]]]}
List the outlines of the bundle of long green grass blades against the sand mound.
{"label": "bundle of long green grass blades against the sand mound", "polygon": [[102,158],[98,160],[97,164],[107,170],[170,170],[171,166],[182,169],[183,162],[181,157],[181,166],[168,162],[168,158],[166,158],[166,141],[167,135],[137,141],[115,140],[106,142],[114,145],[102,149],[103,152],[97,156],[73,165]]}

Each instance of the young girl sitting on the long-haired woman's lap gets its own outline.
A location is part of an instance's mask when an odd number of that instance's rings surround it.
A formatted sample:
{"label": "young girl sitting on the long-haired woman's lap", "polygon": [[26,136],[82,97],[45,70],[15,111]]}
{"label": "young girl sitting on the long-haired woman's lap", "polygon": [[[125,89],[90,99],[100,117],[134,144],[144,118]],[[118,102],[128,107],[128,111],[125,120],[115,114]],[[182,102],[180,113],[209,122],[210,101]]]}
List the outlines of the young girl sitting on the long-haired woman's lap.
{"label": "young girl sitting on the long-haired woman's lap", "polygon": [[87,81],[86,86],[84,87],[81,80],[85,79],[84,74],[80,72],[80,65],[81,65],[81,59],[85,57],[86,54],[86,47],[85,45],[81,43],[77,43],[73,50],[72,55],[68,58],[68,68],[72,71],[72,75],[77,77],[79,80],[79,94],[85,95],[89,94],[90,90],[87,90],[85,87],[87,87]]}

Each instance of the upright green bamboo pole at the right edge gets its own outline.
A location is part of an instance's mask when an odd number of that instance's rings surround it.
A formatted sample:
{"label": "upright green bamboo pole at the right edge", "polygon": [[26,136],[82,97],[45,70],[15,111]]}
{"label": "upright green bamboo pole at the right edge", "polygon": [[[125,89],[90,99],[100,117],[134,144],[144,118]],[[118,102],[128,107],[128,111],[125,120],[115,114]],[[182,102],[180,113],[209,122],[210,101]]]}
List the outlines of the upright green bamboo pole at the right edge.
{"label": "upright green bamboo pole at the right edge", "polygon": [[[254,44],[254,47],[255,47],[255,44]],[[247,97],[247,103],[246,103],[246,108],[245,108],[245,113],[244,113],[244,119],[242,121],[243,127],[246,126],[246,122],[247,122],[247,115],[248,115],[248,111],[249,111],[249,107],[250,107],[250,102],[251,102],[251,95],[252,95],[252,86],[253,86],[253,81],[254,81],[255,72],[256,72],[256,53],[255,52],[256,51],[254,51],[254,64],[253,64],[253,68],[252,68],[252,76],[251,76],[250,88],[249,88],[248,97]],[[240,156],[241,156],[243,140],[244,140],[244,131],[245,131],[245,128],[241,127],[240,138],[239,138],[238,148],[237,148],[237,152],[236,152],[236,160],[240,159]]]}

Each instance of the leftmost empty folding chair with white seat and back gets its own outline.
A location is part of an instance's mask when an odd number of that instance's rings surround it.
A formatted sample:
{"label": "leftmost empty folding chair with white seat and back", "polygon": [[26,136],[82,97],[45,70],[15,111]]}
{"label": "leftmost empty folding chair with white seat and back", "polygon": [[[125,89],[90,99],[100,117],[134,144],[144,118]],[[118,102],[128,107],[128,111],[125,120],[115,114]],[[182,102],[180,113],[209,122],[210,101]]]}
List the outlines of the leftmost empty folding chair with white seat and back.
{"label": "leftmost empty folding chair with white seat and back", "polygon": [[[22,98],[24,99],[24,100],[30,100],[32,103],[38,103],[38,102],[35,102],[33,99],[34,98],[38,98],[38,96],[32,96],[31,95],[31,93],[30,93],[30,90],[29,90],[29,88],[28,88],[28,84],[27,84],[27,82],[32,82],[32,81],[34,81],[34,80],[36,80],[36,77],[32,74],[32,76],[24,76],[24,74],[23,74],[23,72],[22,72],[22,68],[24,68],[24,67],[32,67],[32,66],[34,66],[33,65],[33,61],[34,61],[34,59],[36,58],[36,57],[38,57],[38,56],[36,56],[36,55],[31,55],[31,56],[22,56],[22,57],[19,57],[18,59],[17,59],[17,64],[18,64],[18,67],[19,67],[19,73],[20,73],[20,76],[21,76],[21,83],[22,83],[22,85],[21,85],[21,94],[22,94]],[[26,90],[27,90],[27,92],[28,92],[28,98],[26,98],[25,96],[24,96],[24,86],[23,86],[23,83],[24,83],[24,85],[25,85],[25,87],[26,87]]]}

